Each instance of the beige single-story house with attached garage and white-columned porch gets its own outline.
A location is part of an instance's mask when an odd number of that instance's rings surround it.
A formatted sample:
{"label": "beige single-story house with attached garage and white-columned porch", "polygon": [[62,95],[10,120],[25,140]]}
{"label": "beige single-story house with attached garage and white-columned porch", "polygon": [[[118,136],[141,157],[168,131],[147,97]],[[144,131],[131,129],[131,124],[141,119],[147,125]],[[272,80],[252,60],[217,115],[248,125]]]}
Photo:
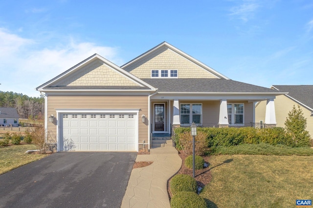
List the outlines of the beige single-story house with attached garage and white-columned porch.
{"label": "beige single-story house with attached garage and white-columned porch", "polygon": [[284,94],[231,80],[167,42],[121,67],[94,54],[36,89],[58,151],[150,149],[152,133],[192,122],[250,126],[260,100],[276,125],[274,98]]}

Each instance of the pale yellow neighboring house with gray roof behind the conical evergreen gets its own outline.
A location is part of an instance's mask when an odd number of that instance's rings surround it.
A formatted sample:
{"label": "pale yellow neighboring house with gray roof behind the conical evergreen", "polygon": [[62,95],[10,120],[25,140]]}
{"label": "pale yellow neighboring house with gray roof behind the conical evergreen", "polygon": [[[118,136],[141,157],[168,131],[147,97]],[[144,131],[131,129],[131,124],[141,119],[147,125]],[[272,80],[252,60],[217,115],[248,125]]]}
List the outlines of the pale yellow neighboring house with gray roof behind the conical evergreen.
{"label": "pale yellow neighboring house with gray roof behind the conical evergreen", "polygon": [[[270,87],[281,92],[289,92],[287,95],[278,95],[275,98],[275,114],[278,127],[285,127],[288,113],[295,105],[300,105],[304,117],[307,119],[307,131],[313,138],[313,85],[273,85]],[[265,121],[264,113],[266,101],[257,103],[255,107],[255,121]],[[266,123],[266,122],[265,122]]]}

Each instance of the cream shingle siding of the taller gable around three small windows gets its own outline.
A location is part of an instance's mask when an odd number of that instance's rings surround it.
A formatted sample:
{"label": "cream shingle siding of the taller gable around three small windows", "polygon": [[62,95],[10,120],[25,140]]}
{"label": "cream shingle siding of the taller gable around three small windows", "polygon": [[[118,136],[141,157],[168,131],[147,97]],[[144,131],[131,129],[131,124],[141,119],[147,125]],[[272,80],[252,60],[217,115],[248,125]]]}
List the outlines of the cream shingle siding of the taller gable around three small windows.
{"label": "cream shingle siding of the taller gable around three small windows", "polygon": [[178,78],[219,78],[165,46],[124,69],[141,79],[151,78],[151,70],[162,69],[178,70]]}

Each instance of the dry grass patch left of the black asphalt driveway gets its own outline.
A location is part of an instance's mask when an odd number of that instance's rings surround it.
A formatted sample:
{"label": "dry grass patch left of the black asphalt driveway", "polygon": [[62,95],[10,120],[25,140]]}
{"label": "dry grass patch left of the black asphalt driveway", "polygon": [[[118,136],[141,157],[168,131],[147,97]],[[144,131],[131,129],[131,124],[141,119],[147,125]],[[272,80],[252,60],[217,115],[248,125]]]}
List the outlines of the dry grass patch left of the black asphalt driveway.
{"label": "dry grass patch left of the black asphalt driveway", "polygon": [[48,154],[27,154],[25,153],[27,150],[36,150],[36,146],[23,144],[0,147],[0,174],[48,156]]}

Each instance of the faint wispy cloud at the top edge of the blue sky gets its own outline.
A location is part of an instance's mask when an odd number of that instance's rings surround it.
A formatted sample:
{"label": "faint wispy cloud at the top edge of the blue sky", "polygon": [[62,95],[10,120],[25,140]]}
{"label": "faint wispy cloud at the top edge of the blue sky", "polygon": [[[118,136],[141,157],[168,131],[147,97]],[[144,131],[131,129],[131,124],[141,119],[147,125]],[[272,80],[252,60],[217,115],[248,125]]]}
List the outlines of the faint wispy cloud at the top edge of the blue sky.
{"label": "faint wispy cloud at the top edge of the blue sky", "polygon": [[246,22],[253,18],[254,13],[259,7],[260,5],[253,0],[244,0],[241,5],[234,6],[230,9],[230,15],[236,16]]}

